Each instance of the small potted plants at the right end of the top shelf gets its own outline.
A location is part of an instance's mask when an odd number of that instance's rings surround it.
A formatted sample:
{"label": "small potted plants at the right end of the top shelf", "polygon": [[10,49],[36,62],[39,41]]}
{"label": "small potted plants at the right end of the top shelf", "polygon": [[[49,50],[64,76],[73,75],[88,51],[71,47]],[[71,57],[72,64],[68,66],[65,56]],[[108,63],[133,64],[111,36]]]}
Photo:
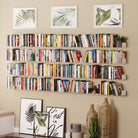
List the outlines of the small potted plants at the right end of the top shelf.
{"label": "small potted plants at the right end of the top shelf", "polygon": [[117,35],[115,38],[116,47],[126,47],[126,40],[126,37]]}

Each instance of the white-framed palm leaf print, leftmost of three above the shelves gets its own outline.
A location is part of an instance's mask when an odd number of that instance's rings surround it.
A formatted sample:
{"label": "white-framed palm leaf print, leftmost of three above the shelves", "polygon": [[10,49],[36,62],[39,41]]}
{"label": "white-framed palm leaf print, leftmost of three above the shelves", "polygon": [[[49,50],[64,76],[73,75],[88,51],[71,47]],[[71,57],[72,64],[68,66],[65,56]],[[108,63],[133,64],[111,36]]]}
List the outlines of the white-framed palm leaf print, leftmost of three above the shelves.
{"label": "white-framed palm leaf print, leftmost of three above the shelves", "polygon": [[36,8],[14,8],[13,28],[14,29],[36,28]]}

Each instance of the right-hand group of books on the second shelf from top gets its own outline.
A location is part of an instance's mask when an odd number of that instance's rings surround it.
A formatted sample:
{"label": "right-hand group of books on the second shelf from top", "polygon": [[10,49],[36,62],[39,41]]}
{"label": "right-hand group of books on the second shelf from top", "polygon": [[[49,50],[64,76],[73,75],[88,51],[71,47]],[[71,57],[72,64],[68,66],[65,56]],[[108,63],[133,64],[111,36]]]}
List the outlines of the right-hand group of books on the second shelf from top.
{"label": "right-hand group of books on the second shelf from top", "polygon": [[84,62],[121,64],[123,59],[126,59],[125,51],[95,49],[86,52]]}

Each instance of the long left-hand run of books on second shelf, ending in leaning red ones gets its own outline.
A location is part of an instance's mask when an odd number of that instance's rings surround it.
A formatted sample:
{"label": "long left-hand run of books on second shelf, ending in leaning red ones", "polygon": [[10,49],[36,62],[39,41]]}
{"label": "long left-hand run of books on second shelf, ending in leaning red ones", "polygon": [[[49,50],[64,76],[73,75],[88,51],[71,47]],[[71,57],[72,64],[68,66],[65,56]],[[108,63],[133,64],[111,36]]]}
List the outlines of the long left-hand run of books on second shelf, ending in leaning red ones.
{"label": "long left-hand run of books on second shelf, ending in leaning red ones", "polygon": [[13,61],[80,62],[80,58],[77,50],[7,49],[7,60]]}

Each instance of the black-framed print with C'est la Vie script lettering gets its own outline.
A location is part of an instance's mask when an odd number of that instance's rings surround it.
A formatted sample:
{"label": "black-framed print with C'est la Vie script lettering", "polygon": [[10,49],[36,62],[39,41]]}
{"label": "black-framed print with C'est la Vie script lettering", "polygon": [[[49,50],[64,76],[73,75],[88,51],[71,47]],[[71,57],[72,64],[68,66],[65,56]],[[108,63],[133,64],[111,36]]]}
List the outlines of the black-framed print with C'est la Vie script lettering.
{"label": "black-framed print with C'est la Vie script lettering", "polygon": [[49,114],[48,136],[63,138],[65,134],[66,109],[60,107],[46,107]]}

